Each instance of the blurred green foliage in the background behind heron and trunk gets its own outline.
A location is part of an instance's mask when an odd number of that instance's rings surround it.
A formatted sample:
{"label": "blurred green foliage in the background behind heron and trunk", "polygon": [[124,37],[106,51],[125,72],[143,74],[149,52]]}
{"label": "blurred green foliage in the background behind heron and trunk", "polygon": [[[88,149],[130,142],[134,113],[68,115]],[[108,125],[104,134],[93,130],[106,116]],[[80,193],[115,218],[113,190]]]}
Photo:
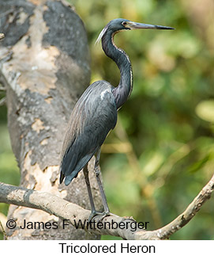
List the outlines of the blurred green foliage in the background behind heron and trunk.
{"label": "blurred green foliage in the background behind heron and trunk", "polygon": [[[121,32],[115,44],[130,56],[133,93],[102,147],[101,169],[111,212],[149,221],[174,220],[214,170],[213,0],[70,0],[84,22],[92,55],[92,82],[117,86],[119,72],[94,45],[117,17],[174,27]],[[0,100],[5,94],[0,91]],[[0,106],[0,181],[18,185],[19,170]],[[213,196],[171,239],[214,239]],[[7,214],[7,205],[0,204]],[[118,239],[103,236],[103,239]]]}

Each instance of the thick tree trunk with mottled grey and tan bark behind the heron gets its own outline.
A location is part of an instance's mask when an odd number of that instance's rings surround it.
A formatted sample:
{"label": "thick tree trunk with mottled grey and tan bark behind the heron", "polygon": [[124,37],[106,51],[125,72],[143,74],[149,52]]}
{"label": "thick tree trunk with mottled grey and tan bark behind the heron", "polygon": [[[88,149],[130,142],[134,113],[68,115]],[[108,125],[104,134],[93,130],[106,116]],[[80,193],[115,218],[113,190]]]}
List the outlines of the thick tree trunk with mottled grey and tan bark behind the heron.
{"label": "thick tree trunk with mottled grey and tan bark behind the heron", "polygon": [[[59,1],[0,0],[0,32],[6,36],[0,43],[0,77],[6,86],[9,135],[21,187],[90,208],[82,174],[68,187],[58,185],[69,114],[90,80],[88,41],[80,17]],[[96,180],[90,174],[98,203]],[[58,229],[51,231],[7,229],[9,239],[99,238],[72,226],[63,230],[62,220],[37,209],[11,205],[8,218],[17,223],[59,221]]]}

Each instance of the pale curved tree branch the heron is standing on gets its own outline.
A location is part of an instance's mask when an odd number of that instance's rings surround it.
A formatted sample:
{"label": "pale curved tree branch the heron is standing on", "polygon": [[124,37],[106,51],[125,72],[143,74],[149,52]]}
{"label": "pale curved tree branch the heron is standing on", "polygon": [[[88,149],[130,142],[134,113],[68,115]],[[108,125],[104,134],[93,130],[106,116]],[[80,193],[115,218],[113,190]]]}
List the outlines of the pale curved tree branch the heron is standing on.
{"label": "pale curved tree branch the heron is standing on", "polygon": [[[122,237],[122,239],[167,239],[170,235],[174,234],[193,219],[193,216],[195,216],[201,209],[201,206],[205,201],[211,197],[213,190],[214,175],[181,215],[179,215],[170,224],[167,224],[155,231],[142,230],[140,226],[137,226],[137,222],[135,220],[120,216],[106,216],[100,221],[99,216],[96,216],[93,219],[96,222],[95,225],[93,227],[84,226],[84,229],[96,235],[115,235]],[[69,220],[73,226],[79,223],[79,221],[81,221],[82,224],[87,222],[90,214],[89,210],[81,208],[81,206],[70,203],[60,197],[54,196],[51,193],[24,189],[14,185],[6,185],[2,182],[0,182],[0,202],[40,209],[44,212],[54,214],[54,216],[58,216],[62,220]],[[99,227],[97,226],[98,222],[99,224],[102,222]],[[111,226],[113,222],[116,223],[114,225],[115,227],[117,226],[117,228]],[[100,228],[102,225],[103,227]],[[137,228],[133,231],[133,229],[135,229],[134,227]]]}

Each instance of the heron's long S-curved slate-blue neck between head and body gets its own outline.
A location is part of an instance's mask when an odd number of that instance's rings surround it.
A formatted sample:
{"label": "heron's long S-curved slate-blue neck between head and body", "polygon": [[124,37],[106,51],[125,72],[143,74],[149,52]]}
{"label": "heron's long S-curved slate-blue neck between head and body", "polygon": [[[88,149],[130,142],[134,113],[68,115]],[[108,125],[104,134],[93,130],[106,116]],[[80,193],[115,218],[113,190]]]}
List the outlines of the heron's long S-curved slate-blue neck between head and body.
{"label": "heron's long S-curved slate-blue neck between head and body", "polygon": [[119,109],[131,94],[133,74],[129,56],[126,55],[126,52],[122,49],[115,46],[113,37],[114,34],[107,32],[102,38],[102,45],[103,51],[109,58],[115,61],[120,71],[120,82],[118,86],[112,90],[115,96],[117,109]]}

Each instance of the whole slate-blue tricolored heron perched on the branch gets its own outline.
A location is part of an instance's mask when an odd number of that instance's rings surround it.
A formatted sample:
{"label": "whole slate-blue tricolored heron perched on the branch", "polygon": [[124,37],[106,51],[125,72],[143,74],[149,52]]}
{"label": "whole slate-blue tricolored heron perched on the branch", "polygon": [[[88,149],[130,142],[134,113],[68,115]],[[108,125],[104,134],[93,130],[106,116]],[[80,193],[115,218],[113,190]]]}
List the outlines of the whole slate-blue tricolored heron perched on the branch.
{"label": "whole slate-blue tricolored heron perched on the branch", "polygon": [[83,169],[92,208],[90,219],[98,214],[88,179],[88,161],[93,155],[96,155],[94,170],[103,201],[103,216],[110,213],[99,178],[100,147],[108,132],[115,128],[117,111],[127,101],[132,91],[133,72],[129,56],[122,49],[117,48],[113,41],[115,33],[131,29],[173,28],[142,24],[122,18],[112,20],[105,26],[97,40],[102,40],[103,51],[118,65],[120,82],[117,87],[111,86],[107,81],[93,82],[88,86],[73,108],[62,146],[60,183],[66,178],[65,184],[69,185]]}

